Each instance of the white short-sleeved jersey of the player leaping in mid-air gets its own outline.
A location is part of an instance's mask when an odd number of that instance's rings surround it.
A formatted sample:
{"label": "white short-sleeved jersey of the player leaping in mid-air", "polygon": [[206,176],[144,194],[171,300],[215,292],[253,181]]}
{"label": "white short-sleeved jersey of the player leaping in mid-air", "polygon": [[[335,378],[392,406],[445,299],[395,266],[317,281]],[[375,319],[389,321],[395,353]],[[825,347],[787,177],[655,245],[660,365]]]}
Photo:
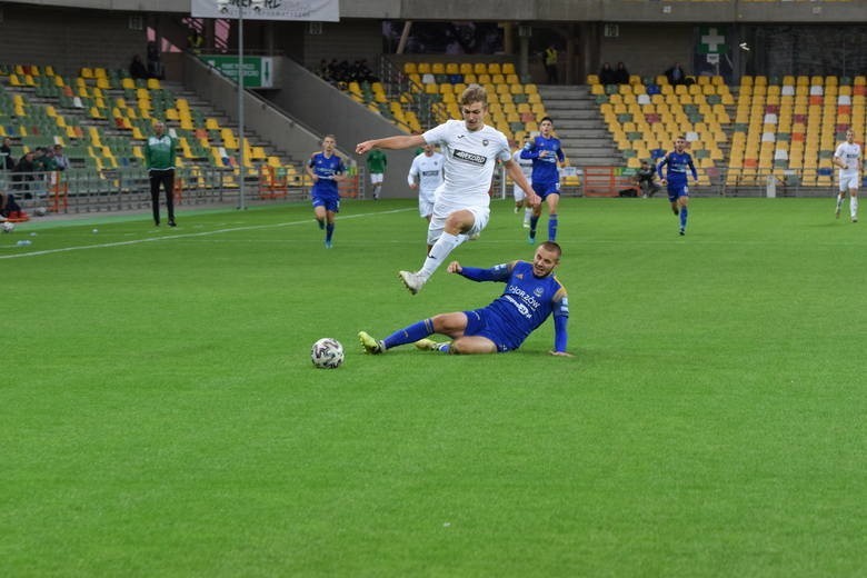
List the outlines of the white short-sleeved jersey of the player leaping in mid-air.
{"label": "white short-sleeved jersey of the player leaping in mid-air", "polygon": [[506,134],[487,124],[469,131],[462,120],[447,120],[422,137],[428,144],[439,144],[446,159],[446,180],[437,191],[437,202],[455,208],[489,207],[497,159],[511,159]]}

